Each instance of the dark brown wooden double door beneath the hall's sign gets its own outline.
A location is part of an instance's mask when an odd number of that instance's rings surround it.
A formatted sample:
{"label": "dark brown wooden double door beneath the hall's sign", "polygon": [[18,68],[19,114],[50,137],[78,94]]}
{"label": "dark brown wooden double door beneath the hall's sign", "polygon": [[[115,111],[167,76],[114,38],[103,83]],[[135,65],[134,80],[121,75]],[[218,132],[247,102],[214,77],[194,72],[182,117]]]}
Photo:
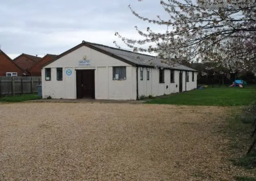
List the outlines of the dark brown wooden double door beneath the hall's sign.
{"label": "dark brown wooden double door beneath the hall's sign", "polygon": [[77,99],[95,99],[94,70],[77,70]]}

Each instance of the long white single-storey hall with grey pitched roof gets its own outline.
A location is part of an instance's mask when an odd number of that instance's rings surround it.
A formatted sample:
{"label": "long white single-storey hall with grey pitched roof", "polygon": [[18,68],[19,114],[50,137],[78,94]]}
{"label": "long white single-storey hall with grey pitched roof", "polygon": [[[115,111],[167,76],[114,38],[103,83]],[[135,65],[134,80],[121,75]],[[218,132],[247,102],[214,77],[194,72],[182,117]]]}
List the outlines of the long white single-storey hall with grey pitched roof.
{"label": "long white single-storey hall with grey pitched roof", "polygon": [[196,88],[196,70],[152,58],[83,41],[43,65],[42,98],[136,100]]}

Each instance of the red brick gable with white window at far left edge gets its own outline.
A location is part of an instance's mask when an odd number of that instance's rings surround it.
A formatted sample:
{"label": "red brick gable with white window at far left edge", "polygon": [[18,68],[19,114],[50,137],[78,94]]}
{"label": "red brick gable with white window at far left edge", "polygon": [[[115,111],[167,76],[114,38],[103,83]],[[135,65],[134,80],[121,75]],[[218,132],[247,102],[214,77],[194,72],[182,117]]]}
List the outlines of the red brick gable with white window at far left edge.
{"label": "red brick gable with white window at far left edge", "polygon": [[23,70],[0,50],[0,76],[22,76]]}

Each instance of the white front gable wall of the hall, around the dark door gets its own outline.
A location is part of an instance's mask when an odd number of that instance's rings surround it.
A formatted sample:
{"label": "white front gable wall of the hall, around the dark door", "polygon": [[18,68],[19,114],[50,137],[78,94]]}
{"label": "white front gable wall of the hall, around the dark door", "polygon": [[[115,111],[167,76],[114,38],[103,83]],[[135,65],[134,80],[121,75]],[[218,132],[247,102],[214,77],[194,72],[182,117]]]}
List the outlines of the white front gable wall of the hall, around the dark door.
{"label": "white front gable wall of the hall, around the dark door", "polygon": [[[79,66],[78,60],[91,60],[90,66]],[[113,66],[126,66],[126,80],[113,80]],[[57,81],[56,68],[63,68],[63,80]],[[45,80],[45,68],[51,68],[51,80]],[[71,69],[72,75],[66,75]],[[76,69],[95,69],[95,99],[136,99],[136,68],[82,46],[42,69],[42,97],[76,99]]]}

